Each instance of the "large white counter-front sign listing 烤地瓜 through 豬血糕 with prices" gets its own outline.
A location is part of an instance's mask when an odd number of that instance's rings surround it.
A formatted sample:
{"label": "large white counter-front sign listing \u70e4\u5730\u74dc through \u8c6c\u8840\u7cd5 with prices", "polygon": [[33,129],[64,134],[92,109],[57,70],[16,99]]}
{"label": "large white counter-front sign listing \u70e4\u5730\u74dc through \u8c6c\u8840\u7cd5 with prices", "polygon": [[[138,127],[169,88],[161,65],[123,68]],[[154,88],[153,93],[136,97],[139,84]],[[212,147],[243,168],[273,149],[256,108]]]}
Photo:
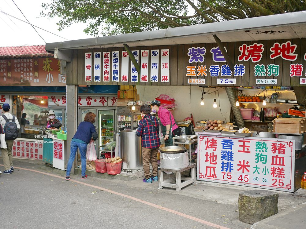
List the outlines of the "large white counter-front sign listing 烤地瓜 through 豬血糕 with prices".
{"label": "large white counter-front sign listing \u70e4\u5730\u74dc through \u8c6c\u8840\u7cd5 with prices", "polygon": [[292,140],[198,136],[198,180],[293,192]]}

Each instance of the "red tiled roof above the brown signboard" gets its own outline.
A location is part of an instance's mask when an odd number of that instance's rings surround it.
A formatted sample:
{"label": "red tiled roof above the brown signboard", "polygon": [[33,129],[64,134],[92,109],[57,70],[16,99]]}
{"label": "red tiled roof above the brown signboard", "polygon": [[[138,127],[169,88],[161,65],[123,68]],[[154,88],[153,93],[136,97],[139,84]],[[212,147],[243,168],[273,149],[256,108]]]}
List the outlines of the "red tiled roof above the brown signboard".
{"label": "red tiled roof above the brown signboard", "polygon": [[53,56],[47,53],[45,45],[0,47],[0,58],[16,58],[16,57],[44,57]]}

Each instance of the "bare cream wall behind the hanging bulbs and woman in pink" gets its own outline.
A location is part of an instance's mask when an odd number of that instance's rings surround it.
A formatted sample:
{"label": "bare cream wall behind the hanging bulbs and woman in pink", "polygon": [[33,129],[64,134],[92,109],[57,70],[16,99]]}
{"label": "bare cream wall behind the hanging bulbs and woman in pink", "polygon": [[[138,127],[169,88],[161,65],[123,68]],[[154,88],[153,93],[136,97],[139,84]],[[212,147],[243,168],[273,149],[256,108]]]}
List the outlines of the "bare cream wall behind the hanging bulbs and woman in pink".
{"label": "bare cream wall behind the hanging bulbs and woman in pink", "polygon": [[[195,121],[203,119],[224,120],[230,121],[230,101],[224,89],[219,89],[220,106],[219,108],[218,93],[216,93],[216,100],[218,107],[213,108],[215,93],[217,89],[211,88],[211,94],[204,94],[204,106],[200,105],[202,97],[202,88],[199,86],[136,86],[137,93],[140,95],[140,100],[152,101],[160,94],[166,94],[175,99],[177,107],[174,110],[174,117],[176,121],[181,121],[190,114],[193,115]],[[209,89],[204,89],[207,92]]]}

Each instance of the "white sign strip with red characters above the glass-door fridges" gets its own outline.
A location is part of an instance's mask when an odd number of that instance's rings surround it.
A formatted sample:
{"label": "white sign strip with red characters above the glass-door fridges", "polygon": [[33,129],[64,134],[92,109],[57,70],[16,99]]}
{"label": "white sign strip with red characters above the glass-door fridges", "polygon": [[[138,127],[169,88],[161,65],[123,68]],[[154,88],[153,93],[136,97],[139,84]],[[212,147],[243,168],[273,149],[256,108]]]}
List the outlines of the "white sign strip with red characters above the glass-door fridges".
{"label": "white sign strip with red characters above the glass-door fridges", "polygon": [[[82,107],[116,107],[117,97],[114,96],[79,96]],[[49,96],[49,106],[66,106],[66,96]]]}

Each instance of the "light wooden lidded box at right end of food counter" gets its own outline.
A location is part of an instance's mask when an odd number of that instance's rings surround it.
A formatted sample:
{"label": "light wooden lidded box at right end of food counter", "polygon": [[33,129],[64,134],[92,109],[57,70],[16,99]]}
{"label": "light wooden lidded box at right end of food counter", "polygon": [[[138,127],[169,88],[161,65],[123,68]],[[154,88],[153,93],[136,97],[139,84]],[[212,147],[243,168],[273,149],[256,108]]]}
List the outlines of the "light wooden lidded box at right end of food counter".
{"label": "light wooden lidded box at right end of food counter", "polygon": [[275,118],[273,132],[284,134],[302,134],[306,132],[306,118]]}

